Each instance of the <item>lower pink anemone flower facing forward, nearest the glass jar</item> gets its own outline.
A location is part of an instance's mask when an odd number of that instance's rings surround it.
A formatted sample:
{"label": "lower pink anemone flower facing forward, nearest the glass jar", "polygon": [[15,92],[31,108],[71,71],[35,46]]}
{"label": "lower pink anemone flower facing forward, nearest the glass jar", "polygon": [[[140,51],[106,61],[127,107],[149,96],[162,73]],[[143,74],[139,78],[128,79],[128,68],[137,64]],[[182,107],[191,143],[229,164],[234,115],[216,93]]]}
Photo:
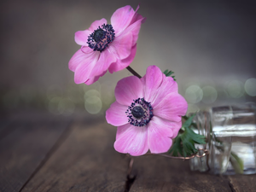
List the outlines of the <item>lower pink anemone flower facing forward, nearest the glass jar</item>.
{"label": "lower pink anemone flower facing forward, nearest the glass jar", "polygon": [[119,153],[143,155],[165,153],[182,126],[188,103],[177,92],[177,82],[159,67],[150,66],[146,75],[119,80],[116,102],[108,108],[108,124],[117,126],[114,148]]}

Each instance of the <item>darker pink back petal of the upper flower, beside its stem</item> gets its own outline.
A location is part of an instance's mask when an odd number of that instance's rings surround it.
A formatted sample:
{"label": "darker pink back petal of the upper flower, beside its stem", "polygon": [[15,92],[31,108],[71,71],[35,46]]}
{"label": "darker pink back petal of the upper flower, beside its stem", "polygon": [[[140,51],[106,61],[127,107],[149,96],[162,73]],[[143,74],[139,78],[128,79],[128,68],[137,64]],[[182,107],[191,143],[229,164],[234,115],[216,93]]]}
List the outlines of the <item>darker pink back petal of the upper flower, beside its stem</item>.
{"label": "darker pink back petal of the upper flower, beside its stem", "polygon": [[116,62],[113,62],[110,67],[108,67],[109,73],[118,72],[120,70],[123,70],[124,68],[128,67],[131,62],[133,61],[137,51],[137,44],[135,44],[131,48],[131,55],[129,55],[124,60],[117,60]]}

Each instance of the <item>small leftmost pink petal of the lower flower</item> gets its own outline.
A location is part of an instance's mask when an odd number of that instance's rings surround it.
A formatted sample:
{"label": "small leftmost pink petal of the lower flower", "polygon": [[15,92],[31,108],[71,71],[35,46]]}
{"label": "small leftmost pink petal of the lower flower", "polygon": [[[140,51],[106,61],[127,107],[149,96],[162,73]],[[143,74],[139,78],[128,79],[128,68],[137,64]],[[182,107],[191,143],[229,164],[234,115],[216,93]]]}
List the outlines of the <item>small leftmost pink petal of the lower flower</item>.
{"label": "small leftmost pink petal of the lower flower", "polygon": [[106,119],[108,124],[119,126],[128,123],[128,118],[125,114],[127,106],[120,105],[118,102],[113,102],[110,108],[106,111]]}

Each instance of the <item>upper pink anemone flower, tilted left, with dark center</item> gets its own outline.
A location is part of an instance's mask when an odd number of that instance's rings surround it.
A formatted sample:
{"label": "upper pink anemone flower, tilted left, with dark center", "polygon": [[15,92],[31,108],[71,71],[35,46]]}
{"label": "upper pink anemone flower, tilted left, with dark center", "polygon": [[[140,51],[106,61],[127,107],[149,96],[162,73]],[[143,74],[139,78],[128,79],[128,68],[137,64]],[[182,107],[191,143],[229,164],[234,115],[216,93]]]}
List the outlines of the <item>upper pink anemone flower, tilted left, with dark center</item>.
{"label": "upper pink anemone flower, tilted left, with dark center", "polygon": [[[139,9],[139,6],[137,7]],[[107,71],[110,73],[128,67],[137,50],[140,27],[146,18],[130,5],[117,9],[111,17],[94,21],[89,29],[75,33],[75,42],[81,45],[68,67],[74,72],[76,84],[93,84]]]}

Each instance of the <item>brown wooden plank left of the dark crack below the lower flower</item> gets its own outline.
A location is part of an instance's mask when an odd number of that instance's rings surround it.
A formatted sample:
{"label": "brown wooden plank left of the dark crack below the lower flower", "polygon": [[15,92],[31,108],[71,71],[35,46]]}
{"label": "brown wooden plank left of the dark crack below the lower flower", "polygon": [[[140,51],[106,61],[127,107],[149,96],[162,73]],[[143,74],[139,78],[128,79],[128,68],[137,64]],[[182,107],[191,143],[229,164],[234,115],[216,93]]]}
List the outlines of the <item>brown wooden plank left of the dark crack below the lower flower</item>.
{"label": "brown wooden plank left of the dark crack below the lower flower", "polygon": [[22,191],[124,191],[128,159],[113,148],[116,128],[102,116],[72,129]]}

